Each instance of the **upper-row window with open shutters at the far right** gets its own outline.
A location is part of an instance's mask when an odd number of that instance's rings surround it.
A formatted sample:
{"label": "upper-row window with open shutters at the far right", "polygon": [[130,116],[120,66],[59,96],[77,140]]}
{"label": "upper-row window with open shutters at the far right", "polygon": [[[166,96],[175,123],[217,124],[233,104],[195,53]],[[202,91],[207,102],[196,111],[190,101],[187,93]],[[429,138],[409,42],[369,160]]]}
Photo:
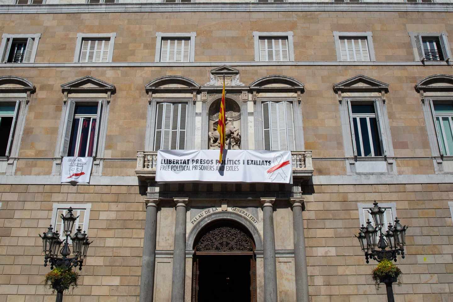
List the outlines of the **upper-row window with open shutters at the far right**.
{"label": "upper-row window with open shutters at the far right", "polygon": [[446,33],[409,32],[416,61],[448,61],[451,58]]}

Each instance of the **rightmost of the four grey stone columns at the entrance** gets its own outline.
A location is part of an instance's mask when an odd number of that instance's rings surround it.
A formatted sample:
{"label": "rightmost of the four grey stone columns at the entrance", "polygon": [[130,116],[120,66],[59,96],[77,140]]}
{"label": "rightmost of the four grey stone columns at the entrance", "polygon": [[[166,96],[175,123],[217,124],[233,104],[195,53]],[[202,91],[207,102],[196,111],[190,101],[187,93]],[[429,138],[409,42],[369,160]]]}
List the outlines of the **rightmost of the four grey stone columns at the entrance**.
{"label": "rightmost of the four grey stone columns at the entrance", "polygon": [[294,231],[294,266],[296,273],[296,301],[308,302],[308,273],[307,255],[305,254],[304,197],[290,199],[293,205],[293,231]]}

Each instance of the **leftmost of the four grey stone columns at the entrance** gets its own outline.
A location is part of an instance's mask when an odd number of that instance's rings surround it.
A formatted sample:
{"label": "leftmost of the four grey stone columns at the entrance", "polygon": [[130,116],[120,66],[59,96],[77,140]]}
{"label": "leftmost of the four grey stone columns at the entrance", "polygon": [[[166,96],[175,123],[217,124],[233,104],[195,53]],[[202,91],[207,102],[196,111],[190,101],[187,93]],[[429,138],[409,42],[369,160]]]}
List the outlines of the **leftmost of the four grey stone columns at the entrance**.
{"label": "leftmost of the four grey stone columns at the entrance", "polygon": [[140,281],[140,302],[153,302],[154,265],[156,262],[157,198],[145,198],[146,223]]}

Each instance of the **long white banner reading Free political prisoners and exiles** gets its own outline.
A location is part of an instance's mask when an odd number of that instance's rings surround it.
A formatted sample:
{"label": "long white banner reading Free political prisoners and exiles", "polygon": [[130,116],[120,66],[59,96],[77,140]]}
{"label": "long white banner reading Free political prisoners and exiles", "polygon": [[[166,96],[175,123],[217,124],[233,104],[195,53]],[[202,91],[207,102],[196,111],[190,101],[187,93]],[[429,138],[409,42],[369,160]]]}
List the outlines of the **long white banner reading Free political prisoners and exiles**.
{"label": "long white banner reading Free political prisoners and exiles", "polygon": [[159,150],[156,182],[292,183],[290,151]]}

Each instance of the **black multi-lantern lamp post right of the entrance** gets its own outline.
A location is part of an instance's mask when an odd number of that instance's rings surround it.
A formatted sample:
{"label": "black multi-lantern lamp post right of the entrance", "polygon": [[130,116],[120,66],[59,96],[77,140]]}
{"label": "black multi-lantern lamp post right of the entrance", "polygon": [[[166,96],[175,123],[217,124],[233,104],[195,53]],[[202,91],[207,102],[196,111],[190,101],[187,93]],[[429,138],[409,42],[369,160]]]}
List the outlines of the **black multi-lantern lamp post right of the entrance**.
{"label": "black multi-lantern lamp post right of the entrance", "polygon": [[[406,245],[406,230],[408,226],[401,225],[400,220],[395,217],[395,225],[390,222],[386,233],[383,233],[382,227],[384,226],[384,212],[386,209],[381,208],[376,201],[374,201],[373,206],[368,213],[370,213],[374,221],[374,226],[368,219],[366,226],[362,225],[359,234],[356,236],[362,251],[365,253],[366,263],[370,263],[370,258],[377,262],[381,262],[384,259],[396,262],[397,255],[401,255],[401,258],[404,259],[404,246]],[[378,232],[379,238],[377,237]],[[392,283],[395,281],[396,278],[387,278],[381,281],[386,284],[388,302],[395,301],[392,288]]]}

